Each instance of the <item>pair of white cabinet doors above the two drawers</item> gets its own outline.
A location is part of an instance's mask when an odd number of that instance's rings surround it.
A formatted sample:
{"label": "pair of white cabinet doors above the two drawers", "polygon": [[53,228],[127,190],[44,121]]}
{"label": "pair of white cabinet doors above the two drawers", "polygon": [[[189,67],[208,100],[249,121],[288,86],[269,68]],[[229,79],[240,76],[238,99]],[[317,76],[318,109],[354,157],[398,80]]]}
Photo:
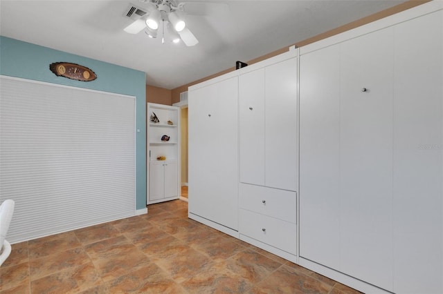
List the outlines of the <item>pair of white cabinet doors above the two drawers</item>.
{"label": "pair of white cabinet doors above the two drawers", "polygon": [[242,68],[240,182],[296,191],[296,50]]}

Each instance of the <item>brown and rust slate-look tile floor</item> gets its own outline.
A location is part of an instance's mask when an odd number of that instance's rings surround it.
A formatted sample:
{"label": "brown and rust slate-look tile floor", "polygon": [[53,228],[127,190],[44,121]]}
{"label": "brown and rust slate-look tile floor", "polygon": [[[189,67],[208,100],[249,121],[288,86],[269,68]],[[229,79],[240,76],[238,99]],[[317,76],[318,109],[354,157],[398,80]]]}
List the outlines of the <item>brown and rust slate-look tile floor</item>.
{"label": "brown and rust slate-look tile floor", "polygon": [[359,293],[188,219],[187,202],[148,210],[12,245],[0,293]]}

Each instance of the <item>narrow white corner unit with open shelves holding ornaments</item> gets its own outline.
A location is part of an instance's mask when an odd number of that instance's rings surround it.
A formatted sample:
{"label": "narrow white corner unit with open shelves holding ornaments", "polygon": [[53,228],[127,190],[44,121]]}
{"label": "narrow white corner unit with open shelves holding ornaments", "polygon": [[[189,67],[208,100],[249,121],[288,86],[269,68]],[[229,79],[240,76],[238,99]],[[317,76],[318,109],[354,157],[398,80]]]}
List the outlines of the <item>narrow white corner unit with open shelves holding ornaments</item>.
{"label": "narrow white corner unit with open shelves holding ornaments", "polygon": [[[150,121],[156,115],[158,122]],[[147,204],[178,199],[180,160],[180,108],[163,104],[147,104]],[[169,121],[169,123],[168,123]],[[162,141],[163,135],[170,137]],[[160,157],[165,159],[159,160]]]}

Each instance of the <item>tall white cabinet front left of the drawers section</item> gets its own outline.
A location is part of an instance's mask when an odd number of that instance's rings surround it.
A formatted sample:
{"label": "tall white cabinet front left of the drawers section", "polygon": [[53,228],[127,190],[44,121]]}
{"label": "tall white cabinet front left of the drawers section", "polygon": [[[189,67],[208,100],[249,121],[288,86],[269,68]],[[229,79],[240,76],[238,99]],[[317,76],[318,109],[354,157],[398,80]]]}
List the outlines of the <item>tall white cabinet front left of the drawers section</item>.
{"label": "tall white cabinet front left of the drawers section", "polygon": [[188,95],[189,213],[238,231],[238,77]]}

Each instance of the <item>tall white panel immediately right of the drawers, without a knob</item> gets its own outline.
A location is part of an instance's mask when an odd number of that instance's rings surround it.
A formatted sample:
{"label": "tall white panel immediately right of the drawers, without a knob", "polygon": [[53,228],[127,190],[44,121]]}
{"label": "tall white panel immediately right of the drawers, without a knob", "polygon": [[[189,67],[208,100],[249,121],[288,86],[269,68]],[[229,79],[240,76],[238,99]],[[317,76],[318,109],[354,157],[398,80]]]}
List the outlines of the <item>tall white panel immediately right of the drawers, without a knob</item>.
{"label": "tall white panel immediately right of the drawers, without a knob", "polygon": [[340,45],[300,57],[300,257],[340,268]]}

